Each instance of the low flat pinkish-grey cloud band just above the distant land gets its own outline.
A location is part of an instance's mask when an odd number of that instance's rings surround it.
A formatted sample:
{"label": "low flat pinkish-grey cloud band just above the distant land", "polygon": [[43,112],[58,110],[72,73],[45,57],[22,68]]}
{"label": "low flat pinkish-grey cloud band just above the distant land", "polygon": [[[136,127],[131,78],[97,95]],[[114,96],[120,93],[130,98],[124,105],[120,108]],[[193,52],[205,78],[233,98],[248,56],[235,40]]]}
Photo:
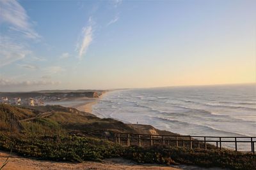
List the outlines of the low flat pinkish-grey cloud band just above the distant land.
{"label": "low flat pinkish-grey cloud band just above the distant land", "polygon": [[26,87],[26,86],[41,86],[41,85],[58,85],[60,81],[45,81],[45,80],[27,80],[14,81],[10,79],[0,78],[0,87]]}

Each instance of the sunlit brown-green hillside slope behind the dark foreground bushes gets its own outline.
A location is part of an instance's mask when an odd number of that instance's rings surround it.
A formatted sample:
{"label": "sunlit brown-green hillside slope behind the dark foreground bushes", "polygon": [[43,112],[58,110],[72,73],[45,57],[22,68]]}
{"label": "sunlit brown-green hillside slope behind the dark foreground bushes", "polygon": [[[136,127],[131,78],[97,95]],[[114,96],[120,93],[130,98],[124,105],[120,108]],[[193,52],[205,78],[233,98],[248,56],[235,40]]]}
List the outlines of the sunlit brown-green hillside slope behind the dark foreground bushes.
{"label": "sunlit brown-green hillside slope behind the dark foreground bushes", "polygon": [[[51,112],[45,118],[36,118],[31,122],[19,122],[25,118],[36,117]],[[67,132],[82,136],[101,136],[103,132],[130,132],[159,134],[159,130],[150,125],[124,124],[112,118],[98,118],[91,113],[65,108],[63,106],[11,106],[0,104],[0,131],[21,131],[35,133]]]}

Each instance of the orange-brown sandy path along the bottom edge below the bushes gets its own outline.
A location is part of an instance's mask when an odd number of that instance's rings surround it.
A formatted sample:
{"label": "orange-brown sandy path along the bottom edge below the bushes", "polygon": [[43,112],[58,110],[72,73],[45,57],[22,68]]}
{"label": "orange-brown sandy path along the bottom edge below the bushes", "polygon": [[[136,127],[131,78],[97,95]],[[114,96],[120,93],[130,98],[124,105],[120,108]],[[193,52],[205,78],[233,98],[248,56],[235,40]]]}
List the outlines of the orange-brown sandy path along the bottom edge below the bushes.
{"label": "orange-brown sandy path along the bottom edge below the bushes", "polygon": [[67,163],[67,162],[53,162],[46,160],[33,160],[17,155],[10,155],[6,152],[0,152],[0,165],[3,164],[4,160],[8,159],[8,164],[3,168],[8,170],[16,169],[164,169],[164,170],[175,170],[177,168],[170,166],[159,166],[156,164],[143,164],[138,165],[132,163],[129,160],[124,159],[108,159],[103,162],[84,162],[84,163]]}

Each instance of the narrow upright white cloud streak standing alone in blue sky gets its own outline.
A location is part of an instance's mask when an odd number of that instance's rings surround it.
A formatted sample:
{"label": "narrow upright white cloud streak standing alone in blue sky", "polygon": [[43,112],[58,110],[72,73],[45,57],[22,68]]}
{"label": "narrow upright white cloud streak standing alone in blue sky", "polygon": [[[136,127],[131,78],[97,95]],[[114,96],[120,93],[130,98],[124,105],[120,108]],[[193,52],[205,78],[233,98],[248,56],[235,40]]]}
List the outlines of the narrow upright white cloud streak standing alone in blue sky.
{"label": "narrow upright white cloud streak standing alone in blue sky", "polygon": [[86,54],[88,47],[92,43],[92,36],[93,36],[93,30],[92,30],[92,18],[90,17],[88,20],[88,26],[83,27],[82,33],[81,33],[81,40],[79,43],[77,43],[77,51],[78,51],[78,58],[82,59],[83,56]]}

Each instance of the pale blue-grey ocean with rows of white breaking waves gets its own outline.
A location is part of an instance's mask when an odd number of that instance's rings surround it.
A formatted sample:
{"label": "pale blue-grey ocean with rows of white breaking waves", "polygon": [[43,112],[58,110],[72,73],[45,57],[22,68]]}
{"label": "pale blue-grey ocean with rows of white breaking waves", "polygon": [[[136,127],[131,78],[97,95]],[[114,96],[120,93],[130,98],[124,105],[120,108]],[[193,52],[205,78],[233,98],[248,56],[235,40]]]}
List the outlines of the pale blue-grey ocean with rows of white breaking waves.
{"label": "pale blue-grey ocean with rows of white breaking waves", "polygon": [[256,136],[256,85],[114,90],[93,114],[182,135]]}

